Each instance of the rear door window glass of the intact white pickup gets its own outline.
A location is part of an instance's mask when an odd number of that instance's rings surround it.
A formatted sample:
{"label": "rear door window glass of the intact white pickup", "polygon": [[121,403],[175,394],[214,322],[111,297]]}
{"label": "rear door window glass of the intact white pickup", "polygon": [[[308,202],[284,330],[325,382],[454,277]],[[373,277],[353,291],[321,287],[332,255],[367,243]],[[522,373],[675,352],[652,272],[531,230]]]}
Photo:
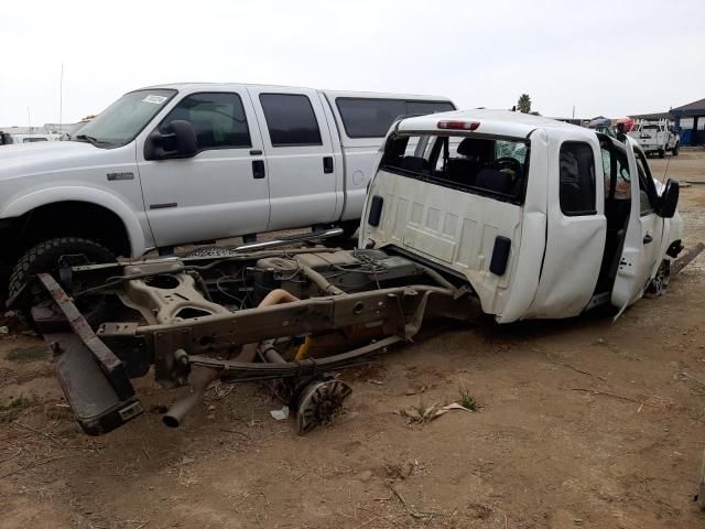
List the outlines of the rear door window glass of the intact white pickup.
{"label": "rear door window glass of the intact white pickup", "polygon": [[274,147],[321,145],[321,130],[306,96],[261,94],[269,137]]}

